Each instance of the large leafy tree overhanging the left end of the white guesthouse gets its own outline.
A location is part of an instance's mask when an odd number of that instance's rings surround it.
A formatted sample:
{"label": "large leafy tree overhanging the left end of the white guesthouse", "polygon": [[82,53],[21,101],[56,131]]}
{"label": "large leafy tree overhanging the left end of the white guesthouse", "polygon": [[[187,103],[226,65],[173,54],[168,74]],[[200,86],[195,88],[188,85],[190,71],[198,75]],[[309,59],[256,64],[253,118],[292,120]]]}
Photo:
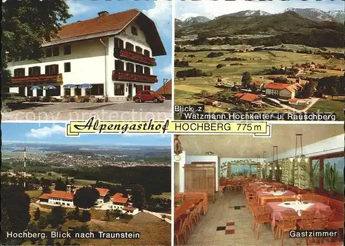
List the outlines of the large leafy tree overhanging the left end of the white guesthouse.
{"label": "large leafy tree overhanging the left end of the white guesthouse", "polygon": [[[2,3],[2,64],[7,67],[8,57],[39,59],[43,39],[57,37],[63,23],[72,15],[64,0],[55,1],[3,1]],[[10,73],[4,70],[1,84],[8,88]]]}

